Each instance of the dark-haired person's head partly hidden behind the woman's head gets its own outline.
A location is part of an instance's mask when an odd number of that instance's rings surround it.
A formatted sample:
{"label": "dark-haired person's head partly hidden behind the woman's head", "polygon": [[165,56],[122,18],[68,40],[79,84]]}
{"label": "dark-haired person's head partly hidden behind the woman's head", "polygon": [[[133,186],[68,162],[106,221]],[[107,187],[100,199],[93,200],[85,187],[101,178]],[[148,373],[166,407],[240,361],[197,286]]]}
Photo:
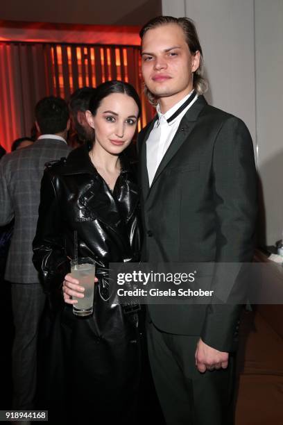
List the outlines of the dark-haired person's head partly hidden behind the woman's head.
{"label": "dark-haired person's head partly hidden behind the woman's head", "polygon": [[76,135],[76,144],[85,143],[94,137],[94,129],[89,126],[85,117],[85,111],[89,109],[89,101],[94,93],[94,88],[83,87],[71,94],[69,100],[71,129],[73,130],[71,140],[74,140],[74,135]]}

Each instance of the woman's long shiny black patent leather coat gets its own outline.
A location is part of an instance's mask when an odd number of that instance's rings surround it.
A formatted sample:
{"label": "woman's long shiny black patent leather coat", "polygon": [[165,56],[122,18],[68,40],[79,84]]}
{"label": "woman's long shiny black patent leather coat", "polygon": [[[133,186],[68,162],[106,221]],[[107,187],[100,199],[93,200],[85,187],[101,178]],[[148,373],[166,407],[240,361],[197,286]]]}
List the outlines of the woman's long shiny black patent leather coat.
{"label": "woman's long shiny black patent leather coat", "polygon": [[[113,193],[92,165],[87,146],[49,165],[42,179],[33,261],[44,291],[53,299],[55,315],[45,321],[41,332],[39,399],[50,412],[71,412],[71,420],[77,415],[78,423],[82,423],[82,414],[86,424],[103,423],[105,412],[126,423],[125,415],[137,399],[137,322],[122,306],[105,301],[98,290],[107,280],[108,263],[139,260],[137,183],[131,167],[122,158],[121,162]],[[83,318],[73,315],[60,290],[69,272],[69,258],[74,256],[74,231],[78,256],[94,258],[99,264],[94,314]]]}

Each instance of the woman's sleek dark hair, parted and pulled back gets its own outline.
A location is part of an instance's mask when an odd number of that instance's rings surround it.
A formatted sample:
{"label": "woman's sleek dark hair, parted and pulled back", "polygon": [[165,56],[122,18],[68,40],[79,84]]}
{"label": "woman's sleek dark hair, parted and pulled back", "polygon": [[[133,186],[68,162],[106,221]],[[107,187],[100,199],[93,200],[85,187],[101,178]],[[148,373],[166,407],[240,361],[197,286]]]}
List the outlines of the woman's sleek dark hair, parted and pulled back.
{"label": "woman's sleek dark hair, parted and pulled back", "polygon": [[89,110],[92,115],[96,115],[96,111],[99,108],[101,101],[113,93],[128,94],[129,97],[132,97],[135,103],[137,103],[137,107],[139,108],[139,118],[141,115],[141,101],[139,100],[139,95],[137,94],[135,88],[132,87],[132,85],[129,83],[116,80],[106,81],[105,83],[98,85],[95,93],[89,101]]}

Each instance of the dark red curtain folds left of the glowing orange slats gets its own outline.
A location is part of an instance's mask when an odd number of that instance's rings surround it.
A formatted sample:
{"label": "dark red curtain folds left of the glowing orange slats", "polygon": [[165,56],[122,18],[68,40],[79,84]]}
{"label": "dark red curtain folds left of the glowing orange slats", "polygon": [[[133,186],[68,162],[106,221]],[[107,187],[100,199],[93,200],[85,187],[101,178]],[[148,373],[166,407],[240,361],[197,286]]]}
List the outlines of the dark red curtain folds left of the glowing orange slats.
{"label": "dark red curtain folds left of the glowing orange slats", "polygon": [[0,43],[0,144],[31,135],[35,103],[46,96],[46,58],[42,44]]}

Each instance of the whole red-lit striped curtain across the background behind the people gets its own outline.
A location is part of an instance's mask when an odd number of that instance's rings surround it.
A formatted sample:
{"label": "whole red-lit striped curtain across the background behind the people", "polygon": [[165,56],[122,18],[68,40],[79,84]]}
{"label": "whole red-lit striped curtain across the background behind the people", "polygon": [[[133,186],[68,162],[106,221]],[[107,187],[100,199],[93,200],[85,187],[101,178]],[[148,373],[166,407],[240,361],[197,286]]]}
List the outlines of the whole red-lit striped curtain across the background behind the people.
{"label": "whole red-lit striped curtain across the background behind the people", "polygon": [[10,151],[15,138],[31,134],[35,103],[104,81],[127,81],[141,97],[138,129],[154,110],[143,94],[138,47],[0,43],[0,144]]}

